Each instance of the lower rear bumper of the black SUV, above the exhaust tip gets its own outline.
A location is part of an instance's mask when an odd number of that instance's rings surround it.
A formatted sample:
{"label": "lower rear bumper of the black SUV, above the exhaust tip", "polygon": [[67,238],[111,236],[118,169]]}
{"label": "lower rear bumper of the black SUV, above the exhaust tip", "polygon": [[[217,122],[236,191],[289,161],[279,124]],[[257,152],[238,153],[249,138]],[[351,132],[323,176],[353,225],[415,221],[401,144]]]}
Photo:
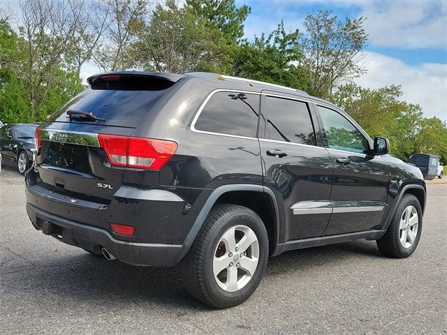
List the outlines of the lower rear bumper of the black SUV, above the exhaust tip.
{"label": "lower rear bumper of the black SUV, above the exhaust tip", "polygon": [[107,248],[117,260],[131,265],[173,267],[189,250],[189,246],[177,244],[121,241],[107,230],[54,216],[29,203],[27,212],[34,228],[42,230],[44,234],[94,253],[99,253],[101,247]]}

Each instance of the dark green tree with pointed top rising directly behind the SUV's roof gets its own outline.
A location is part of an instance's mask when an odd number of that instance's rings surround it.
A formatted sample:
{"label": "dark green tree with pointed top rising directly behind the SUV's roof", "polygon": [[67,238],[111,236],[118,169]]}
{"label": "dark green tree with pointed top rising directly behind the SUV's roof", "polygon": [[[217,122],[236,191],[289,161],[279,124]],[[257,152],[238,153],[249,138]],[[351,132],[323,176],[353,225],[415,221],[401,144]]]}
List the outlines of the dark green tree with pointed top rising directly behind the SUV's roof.
{"label": "dark green tree with pointed top rising directly behind the SUV's roof", "polygon": [[240,45],[234,59],[234,73],[240,77],[308,89],[307,71],[300,66],[302,52],[298,30],[286,33],[284,24],[267,37],[261,34],[254,42]]}

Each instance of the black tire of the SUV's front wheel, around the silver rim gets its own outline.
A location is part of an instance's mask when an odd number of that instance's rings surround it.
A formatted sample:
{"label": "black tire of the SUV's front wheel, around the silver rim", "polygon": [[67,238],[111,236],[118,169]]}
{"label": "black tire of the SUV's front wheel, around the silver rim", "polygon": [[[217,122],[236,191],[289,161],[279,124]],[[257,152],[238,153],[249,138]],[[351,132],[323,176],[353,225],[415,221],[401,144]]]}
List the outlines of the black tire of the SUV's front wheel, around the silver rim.
{"label": "black tire of the SUV's front wheel, around the silver rim", "polygon": [[[411,246],[405,248],[400,241],[400,222],[402,216],[404,215],[404,210],[409,206],[413,206],[418,214],[418,231],[416,233],[416,238],[414,239]],[[383,237],[381,237],[381,239],[377,240],[377,246],[379,247],[379,250],[385,255],[393,258],[406,258],[409,257],[409,255],[411,255],[416,250],[421,232],[422,209],[420,208],[419,201],[414,195],[405,194],[402,197],[402,200],[400,200],[400,203],[397,205],[396,212],[391,219],[388,230],[386,230],[386,233],[383,235]]]}

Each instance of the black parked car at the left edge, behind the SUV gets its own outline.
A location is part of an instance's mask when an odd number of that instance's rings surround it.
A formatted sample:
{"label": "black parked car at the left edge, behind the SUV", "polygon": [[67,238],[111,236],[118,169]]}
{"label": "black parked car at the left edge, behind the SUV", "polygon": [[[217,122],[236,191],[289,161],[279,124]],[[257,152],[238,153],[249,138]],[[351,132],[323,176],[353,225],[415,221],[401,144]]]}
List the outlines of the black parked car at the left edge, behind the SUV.
{"label": "black parked car at the left edge, behind the SUV", "polygon": [[31,149],[36,147],[34,133],[37,124],[6,124],[0,128],[0,154],[3,159],[17,163],[24,174],[33,161]]}

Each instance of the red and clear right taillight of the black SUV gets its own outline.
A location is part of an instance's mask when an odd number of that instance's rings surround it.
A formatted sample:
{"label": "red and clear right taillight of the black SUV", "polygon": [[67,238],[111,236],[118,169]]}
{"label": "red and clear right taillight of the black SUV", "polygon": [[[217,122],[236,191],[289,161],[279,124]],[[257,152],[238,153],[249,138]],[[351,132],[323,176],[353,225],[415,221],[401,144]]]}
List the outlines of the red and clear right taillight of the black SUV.
{"label": "red and clear right taillight of the black SUV", "polygon": [[177,150],[177,143],[152,138],[98,135],[110,165],[160,170]]}

